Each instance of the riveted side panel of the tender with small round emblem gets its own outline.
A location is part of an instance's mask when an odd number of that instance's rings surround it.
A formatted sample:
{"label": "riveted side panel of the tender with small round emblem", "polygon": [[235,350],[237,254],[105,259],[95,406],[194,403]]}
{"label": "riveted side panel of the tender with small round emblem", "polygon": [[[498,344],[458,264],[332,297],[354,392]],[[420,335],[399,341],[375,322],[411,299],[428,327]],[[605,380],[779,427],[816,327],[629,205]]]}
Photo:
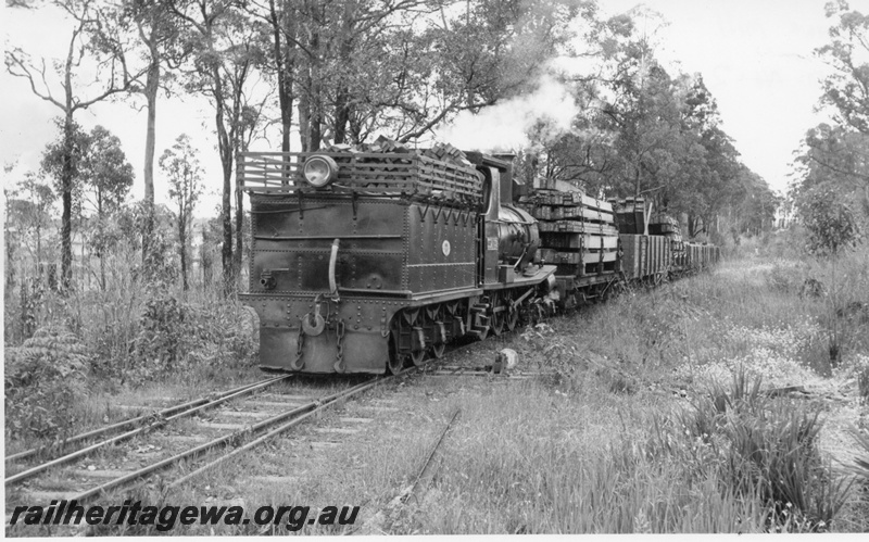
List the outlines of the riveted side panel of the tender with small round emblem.
{"label": "riveted side panel of the tender with small round emblem", "polygon": [[411,204],[405,224],[407,289],[419,294],[477,286],[475,213]]}

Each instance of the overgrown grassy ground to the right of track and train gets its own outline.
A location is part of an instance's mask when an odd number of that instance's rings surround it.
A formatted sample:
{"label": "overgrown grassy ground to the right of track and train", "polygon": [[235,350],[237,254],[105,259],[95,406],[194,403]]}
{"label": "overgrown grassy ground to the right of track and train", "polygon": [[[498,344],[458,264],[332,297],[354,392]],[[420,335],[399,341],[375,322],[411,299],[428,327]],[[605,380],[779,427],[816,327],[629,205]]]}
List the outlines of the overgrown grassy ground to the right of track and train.
{"label": "overgrown grassy ground to the right of track and train", "polygon": [[[404,379],[327,415],[318,426],[373,418],[333,446],[302,427],[179,490],[142,495],[249,509],[358,505],[365,533],[869,531],[869,472],[846,470],[855,457],[869,461],[869,444],[848,432],[869,428],[869,318],[834,316],[828,297],[801,295],[806,279],[824,280],[824,265],[746,253],[451,360],[491,364],[511,348],[519,369],[544,377]],[[843,302],[869,302],[867,257],[841,263]],[[829,355],[833,317],[837,363]],[[807,393],[768,396],[758,382]],[[431,483],[419,500],[391,507],[456,409]],[[286,532],[173,533],[268,531]]]}

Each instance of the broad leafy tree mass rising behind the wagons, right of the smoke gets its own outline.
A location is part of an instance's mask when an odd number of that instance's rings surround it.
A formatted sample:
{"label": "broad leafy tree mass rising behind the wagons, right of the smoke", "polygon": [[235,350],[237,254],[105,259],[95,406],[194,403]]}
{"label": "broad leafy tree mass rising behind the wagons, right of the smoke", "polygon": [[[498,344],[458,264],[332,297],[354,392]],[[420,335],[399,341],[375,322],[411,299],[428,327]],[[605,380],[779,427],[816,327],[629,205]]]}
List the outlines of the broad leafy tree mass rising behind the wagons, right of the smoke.
{"label": "broad leafy tree mass rising behind the wagons, right of the smoke", "polygon": [[568,133],[543,146],[538,174],[602,197],[651,198],[656,210],[687,213],[691,236],[725,210],[744,207],[746,197],[768,204],[755,187],[759,177],[745,174],[721,128],[703,77],[670,75],[640,17],[656,16],[632,11],[592,25],[587,40],[597,70],[575,77],[584,105]]}

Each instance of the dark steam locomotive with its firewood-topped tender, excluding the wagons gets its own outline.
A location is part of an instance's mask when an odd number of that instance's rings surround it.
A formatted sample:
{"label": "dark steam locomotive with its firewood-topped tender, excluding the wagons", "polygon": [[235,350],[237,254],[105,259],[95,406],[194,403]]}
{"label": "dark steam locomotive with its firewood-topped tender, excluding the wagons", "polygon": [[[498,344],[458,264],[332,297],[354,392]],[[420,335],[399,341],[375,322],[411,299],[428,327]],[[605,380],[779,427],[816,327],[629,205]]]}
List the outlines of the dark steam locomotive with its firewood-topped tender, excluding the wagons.
{"label": "dark steam locomotive with its firewood-topped tender, excluding the wagons", "polygon": [[395,373],[554,310],[512,163],[451,146],[244,153],[250,288],[267,369]]}

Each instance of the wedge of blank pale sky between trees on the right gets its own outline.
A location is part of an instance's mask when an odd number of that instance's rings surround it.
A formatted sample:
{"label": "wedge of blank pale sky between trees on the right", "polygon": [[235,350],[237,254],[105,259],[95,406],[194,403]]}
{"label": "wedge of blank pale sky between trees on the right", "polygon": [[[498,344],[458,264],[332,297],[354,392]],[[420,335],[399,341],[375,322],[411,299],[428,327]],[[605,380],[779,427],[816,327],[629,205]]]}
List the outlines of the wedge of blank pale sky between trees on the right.
{"label": "wedge of blank pale sky between trees on the right", "polygon": [[[828,0],[648,0],[669,25],[659,55],[700,72],[743,162],[777,190],[793,151],[829,116],[814,113],[829,68],[813,51],[828,41]],[[856,3],[856,2],[853,2]],[[614,13],[637,0],[602,0]]]}

